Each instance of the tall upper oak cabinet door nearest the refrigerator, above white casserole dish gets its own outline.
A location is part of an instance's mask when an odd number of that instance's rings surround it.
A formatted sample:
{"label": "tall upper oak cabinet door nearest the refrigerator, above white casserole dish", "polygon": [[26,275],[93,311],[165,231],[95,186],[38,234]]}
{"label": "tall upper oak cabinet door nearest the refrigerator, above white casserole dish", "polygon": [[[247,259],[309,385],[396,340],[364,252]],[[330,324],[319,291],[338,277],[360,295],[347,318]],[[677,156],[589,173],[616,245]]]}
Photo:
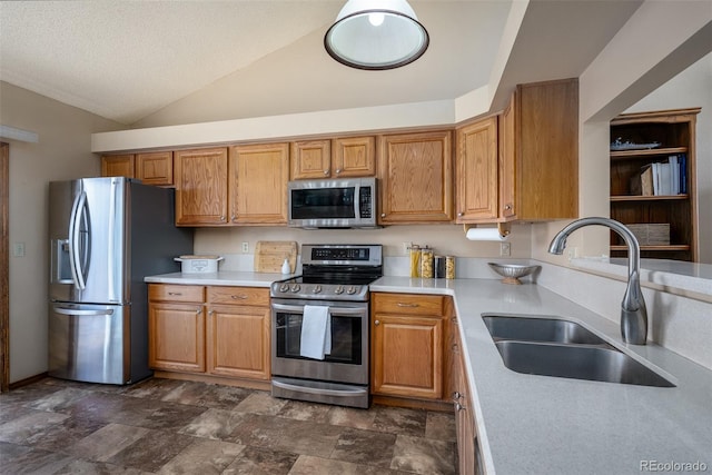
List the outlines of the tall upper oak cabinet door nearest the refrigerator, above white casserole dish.
{"label": "tall upper oak cabinet door nearest the refrigerator, above white casserole dish", "polygon": [[227,148],[178,150],[176,224],[227,224]]}

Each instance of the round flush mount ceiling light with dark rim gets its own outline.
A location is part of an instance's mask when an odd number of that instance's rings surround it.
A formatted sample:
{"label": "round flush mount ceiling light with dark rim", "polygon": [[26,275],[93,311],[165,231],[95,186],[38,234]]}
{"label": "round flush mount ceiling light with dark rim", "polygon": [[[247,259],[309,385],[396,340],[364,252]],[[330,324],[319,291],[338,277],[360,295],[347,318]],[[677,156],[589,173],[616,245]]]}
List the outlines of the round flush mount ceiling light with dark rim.
{"label": "round flush mount ceiling light with dark rim", "polygon": [[395,69],[418,59],[429,38],[406,0],[348,0],[324,37],[326,51],[358,69]]}

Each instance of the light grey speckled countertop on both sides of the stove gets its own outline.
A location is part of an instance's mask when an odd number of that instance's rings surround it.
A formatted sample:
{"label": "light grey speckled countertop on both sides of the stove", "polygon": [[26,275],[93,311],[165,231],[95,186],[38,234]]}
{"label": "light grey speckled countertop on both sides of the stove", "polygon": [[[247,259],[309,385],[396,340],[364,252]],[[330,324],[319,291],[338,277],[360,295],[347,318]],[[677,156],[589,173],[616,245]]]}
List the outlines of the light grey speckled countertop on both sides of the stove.
{"label": "light grey speckled countertop on both sides of the stove", "polygon": [[[286,277],[177,273],[146,281],[268,287]],[[454,297],[487,474],[640,474],[655,467],[660,472],[664,464],[695,463],[712,471],[712,372],[703,366],[656,345],[626,345],[617,324],[533,284],[383,277],[370,290]],[[577,321],[676,387],[512,372],[502,362],[483,313],[547,315]],[[681,466],[670,465],[678,472]]]}

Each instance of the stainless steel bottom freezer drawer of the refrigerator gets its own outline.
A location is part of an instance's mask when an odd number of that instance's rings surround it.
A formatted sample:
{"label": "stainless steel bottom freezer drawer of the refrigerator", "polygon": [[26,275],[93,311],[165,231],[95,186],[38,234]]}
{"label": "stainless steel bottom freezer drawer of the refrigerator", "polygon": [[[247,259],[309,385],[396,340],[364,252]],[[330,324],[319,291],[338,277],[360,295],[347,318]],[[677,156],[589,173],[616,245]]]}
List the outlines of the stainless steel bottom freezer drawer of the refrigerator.
{"label": "stainless steel bottom freezer drawer of the refrigerator", "polygon": [[50,303],[49,375],[87,383],[130,379],[130,306]]}

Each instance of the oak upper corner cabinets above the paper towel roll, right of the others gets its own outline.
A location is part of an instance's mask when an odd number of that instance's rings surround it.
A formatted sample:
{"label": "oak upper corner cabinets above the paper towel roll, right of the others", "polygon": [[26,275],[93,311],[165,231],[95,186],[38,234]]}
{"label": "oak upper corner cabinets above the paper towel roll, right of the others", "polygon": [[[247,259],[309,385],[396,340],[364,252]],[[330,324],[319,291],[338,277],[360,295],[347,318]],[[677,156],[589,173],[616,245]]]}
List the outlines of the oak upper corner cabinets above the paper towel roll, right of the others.
{"label": "oak upper corner cabinets above the paper towel roll, right of the others", "polygon": [[457,172],[457,222],[577,217],[577,80],[520,85],[496,120],[458,128]]}

